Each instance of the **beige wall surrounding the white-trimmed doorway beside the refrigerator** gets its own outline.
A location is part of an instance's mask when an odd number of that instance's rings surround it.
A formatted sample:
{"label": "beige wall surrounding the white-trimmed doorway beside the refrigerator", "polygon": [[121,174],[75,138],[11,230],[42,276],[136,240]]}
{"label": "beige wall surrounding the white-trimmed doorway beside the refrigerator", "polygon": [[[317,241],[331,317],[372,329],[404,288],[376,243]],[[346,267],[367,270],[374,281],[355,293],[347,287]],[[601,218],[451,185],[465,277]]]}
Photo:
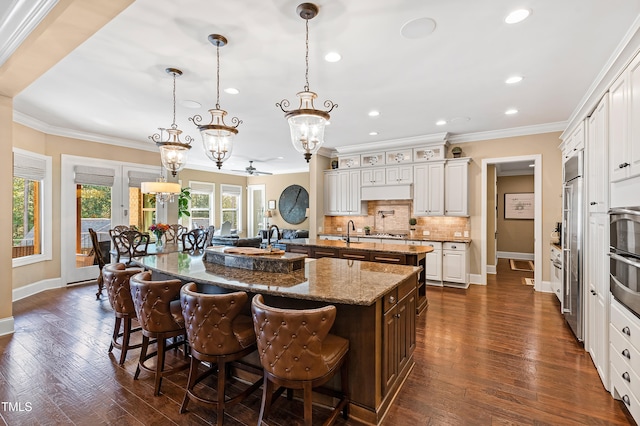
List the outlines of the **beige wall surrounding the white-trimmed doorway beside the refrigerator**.
{"label": "beige wall surrounding the white-trimmed doorway beside the refrigerator", "polygon": [[[480,274],[482,244],[482,160],[540,154],[542,156],[542,247],[546,250],[550,235],[562,217],[562,157],[560,132],[479,142],[454,144],[462,148],[463,156],[471,157],[469,165],[469,214],[471,219],[471,273]],[[546,253],[546,251],[544,252]],[[544,254],[543,253],[543,254]],[[549,259],[542,256],[543,280],[549,280]]]}

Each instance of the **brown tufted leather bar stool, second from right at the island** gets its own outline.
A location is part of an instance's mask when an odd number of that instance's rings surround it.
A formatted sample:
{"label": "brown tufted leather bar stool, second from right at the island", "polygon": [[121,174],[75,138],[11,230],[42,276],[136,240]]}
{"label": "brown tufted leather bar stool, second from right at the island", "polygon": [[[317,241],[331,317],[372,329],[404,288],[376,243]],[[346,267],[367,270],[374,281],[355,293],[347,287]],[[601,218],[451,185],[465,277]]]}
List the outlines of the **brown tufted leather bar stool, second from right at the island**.
{"label": "brown tufted leather bar stool, second from right at the island", "polygon": [[[198,292],[195,283],[185,284],[180,291],[182,315],[191,347],[189,382],[180,412],[187,409],[189,400],[216,408],[218,425],[222,425],[225,408],[245,399],[260,387],[262,380],[251,384],[237,395],[225,398],[228,365],[262,374],[262,369],[239,363],[241,358],[256,350],[256,335],[249,315],[242,315],[249,297],[245,292],[204,294]],[[200,371],[202,362],[208,363],[206,371]],[[203,390],[196,392],[196,385],[218,372],[217,398],[209,399]]]}

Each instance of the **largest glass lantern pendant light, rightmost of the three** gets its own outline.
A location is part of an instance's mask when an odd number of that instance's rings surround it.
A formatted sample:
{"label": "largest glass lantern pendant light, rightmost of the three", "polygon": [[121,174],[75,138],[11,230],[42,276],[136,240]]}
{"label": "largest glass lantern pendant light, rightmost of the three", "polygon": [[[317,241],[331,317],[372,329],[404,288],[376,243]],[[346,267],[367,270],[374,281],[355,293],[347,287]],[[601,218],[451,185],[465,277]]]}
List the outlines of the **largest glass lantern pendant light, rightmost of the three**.
{"label": "largest glass lantern pendant light, rightmost of the three", "polygon": [[277,103],[276,106],[285,113],[285,118],[289,121],[289,130],[291,131],[291,142],[296,151],[304,154],[307,163],[311,159],[311,155],[318,152],[324,143],[324,128],[329,121],[329,113],[338,106],[332,101],[325,101],[326,111],[315,109],[313,100],[318,97],[314,92],[309,90],[309,19],[313,19],[318,14],[318,7],[312,3],[302,3],[296,9],[296,12],[305,20],[306,38],[305,38],[305,85],[304,91],[296,94],[300,99],[298,109],[286,110],[289,107],[287,99]]}

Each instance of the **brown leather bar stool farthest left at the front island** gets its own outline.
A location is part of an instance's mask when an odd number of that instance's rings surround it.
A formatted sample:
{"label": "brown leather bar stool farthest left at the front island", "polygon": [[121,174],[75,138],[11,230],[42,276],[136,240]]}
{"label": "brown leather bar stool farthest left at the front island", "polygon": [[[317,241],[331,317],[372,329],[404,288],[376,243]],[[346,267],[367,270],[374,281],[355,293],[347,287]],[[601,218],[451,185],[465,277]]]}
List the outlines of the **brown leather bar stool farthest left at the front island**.
{"label": "brown leather bar stool farthest left at the front island", "polygon": [[[129,349],[136,349],[141,346],[141,344],[129,344],[131,333],[140,331],[140,327],[132,328],[132,321],[137,319],[137,316],[136,309],[133,306],[133,299],[131,298],[129,280],[132,276],[142,271],[143,269],[140,268],[126,269],[123,263],[110,263],[102,268],[102,277],[107,287],[109,303],[116,317],[109,352],[114,347],[120,349],[120,365],[124,364]],[[121,328],[122,332],[120,332]],[[120,338],[122,340],[118,341]]]}

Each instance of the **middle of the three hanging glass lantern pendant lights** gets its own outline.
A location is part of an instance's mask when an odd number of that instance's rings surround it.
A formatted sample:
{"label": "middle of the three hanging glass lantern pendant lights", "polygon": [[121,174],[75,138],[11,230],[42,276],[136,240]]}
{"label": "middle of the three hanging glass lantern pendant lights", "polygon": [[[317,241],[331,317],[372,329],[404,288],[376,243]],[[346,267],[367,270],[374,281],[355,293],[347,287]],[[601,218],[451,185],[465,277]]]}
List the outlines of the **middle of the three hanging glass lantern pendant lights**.
{"label": "middle of the three hanging glass lantern pendant lights", "polygon": [[209,110],[211,122],[200,124],[202,116],[194,115],[189,118],[198,126],[202,135],[204,152],[211,161],[215,161],[218,169],[222,167],[222,162],[231,156],[233,150],[233,137],[238,133],[237,127],[242,123],[237,117],[231,119],[233,126],[228,126],[224,122],[227,111],[220,109],[220,48],[227,44],[227,39],[220,34],[209,35],[209,41],[216,46],[216,107]]}

